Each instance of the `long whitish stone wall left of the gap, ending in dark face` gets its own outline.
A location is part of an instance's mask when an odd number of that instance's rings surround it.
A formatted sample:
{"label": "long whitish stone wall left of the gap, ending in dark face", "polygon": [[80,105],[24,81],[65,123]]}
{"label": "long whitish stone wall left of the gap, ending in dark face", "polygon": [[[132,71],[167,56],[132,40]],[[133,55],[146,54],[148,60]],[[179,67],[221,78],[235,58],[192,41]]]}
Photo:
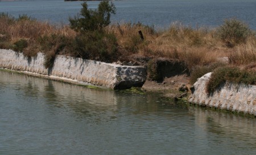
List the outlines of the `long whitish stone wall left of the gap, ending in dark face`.
{"label": "long whitish stone wall left of the gap, ending in dark face", "polygon": [[110,89],[141,87],[146,81],[143,66],[122,66],[105,62],[56,56],[52,68],[44,68],[44,54],[27,58],[23,53],[0,49],[0,68],[59,79],[75,83],[89,83]]}

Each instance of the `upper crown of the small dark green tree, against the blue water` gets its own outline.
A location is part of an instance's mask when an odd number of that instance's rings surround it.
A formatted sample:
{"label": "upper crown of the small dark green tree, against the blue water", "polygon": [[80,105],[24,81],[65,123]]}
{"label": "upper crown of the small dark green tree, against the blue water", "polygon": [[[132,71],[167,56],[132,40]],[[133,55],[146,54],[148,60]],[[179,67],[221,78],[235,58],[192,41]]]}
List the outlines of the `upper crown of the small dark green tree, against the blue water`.
{"label": "upper crown of the small dark green tree, against the blue water", "polygon": [[82,3],[80,16],[69,18],[70,27],[78,32],[102,30],[110,24],[110,15],[115,14],[115,6],[111,2],[102,1],[97,10],[88,9],[86,2]]}

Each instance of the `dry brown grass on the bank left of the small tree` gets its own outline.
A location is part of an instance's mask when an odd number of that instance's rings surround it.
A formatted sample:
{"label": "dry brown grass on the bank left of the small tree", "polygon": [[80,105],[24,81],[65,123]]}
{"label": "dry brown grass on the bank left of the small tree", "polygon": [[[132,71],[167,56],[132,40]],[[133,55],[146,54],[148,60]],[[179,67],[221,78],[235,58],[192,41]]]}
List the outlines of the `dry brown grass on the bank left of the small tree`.
{"label": "dry brown grass on the bank left of the small tree", "polygon": [[77,33],[69,26],[53,26],[48,22],[39,22],[26,15],[15,19],[11,15],[0,14],[0,48],[15,49],[17,41],[26,40],[27,46],[20,50],[24,55],[35,56],[39,51],[48,53],[51,51],[44,51],[40,40],[53,35],[73,40]]}

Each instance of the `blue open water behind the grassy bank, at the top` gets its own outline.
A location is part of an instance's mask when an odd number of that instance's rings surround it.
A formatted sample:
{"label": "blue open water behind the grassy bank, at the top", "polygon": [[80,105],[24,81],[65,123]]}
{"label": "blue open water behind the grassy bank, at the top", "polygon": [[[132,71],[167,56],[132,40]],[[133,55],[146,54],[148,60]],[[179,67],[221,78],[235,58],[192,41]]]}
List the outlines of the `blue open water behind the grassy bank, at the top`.
{"label": "blue open water behind the grassy bank, at the top", "polygon": [[[113,1],[117,14],[113,23],[141,22],[150,26],[168,27],[181,22],[192,27],[217,27],[225,19],[237,18],[256,30],[255,0],[124,0]],[[80,12],[81,1],[27,0],[0,2],[0,12],[14,16],[27,14],[51,23],[68,23],[69,16]],[[97,8],[98,1],[88,2],[89,8]]]}

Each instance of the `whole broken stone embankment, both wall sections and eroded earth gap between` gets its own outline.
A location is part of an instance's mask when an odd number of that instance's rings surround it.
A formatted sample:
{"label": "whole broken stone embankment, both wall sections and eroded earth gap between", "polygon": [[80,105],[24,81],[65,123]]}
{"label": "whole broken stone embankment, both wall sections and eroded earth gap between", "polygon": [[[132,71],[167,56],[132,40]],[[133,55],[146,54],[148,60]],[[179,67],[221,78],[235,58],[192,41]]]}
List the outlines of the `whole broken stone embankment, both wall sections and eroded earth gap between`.
{"label": "whole broken stone embankment, both wall sections and eroded earth gap between", "polygon": [[[90,83],[110,89],[143,86],[146,90],[174,90],[181,83],[188,86],[188,77],[183,71],[183,64],[162,60],[156,64],[156,71],[160,75],[159,81],[147,81],[144,84],[147,72],[143,66],[107,64],[105,62],[83,60],[82,58],[57,56],[53,67],[46,69],[44,68],[43,53],[28,58],[24,57],[22,53],[0,49],[0,68],[17,70],[34,76],[71,81],[72,83]],[[188,98],[189,102],[200,106],[244,112],[256,116],[256,86],[225,83],[214,93],[208,94],[206,86],[210,75],[211,73],[208,73],[197,79],[197,82],[191,87],[192,94]],[[182,84],[177,90],[185,91],[185,93],[178,95],[166,94],[166,97],[182,98],[187,95],[187,89],[180,90],[183,87],[186,88]]]}

